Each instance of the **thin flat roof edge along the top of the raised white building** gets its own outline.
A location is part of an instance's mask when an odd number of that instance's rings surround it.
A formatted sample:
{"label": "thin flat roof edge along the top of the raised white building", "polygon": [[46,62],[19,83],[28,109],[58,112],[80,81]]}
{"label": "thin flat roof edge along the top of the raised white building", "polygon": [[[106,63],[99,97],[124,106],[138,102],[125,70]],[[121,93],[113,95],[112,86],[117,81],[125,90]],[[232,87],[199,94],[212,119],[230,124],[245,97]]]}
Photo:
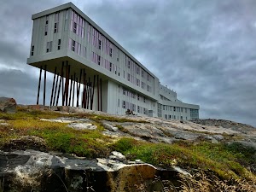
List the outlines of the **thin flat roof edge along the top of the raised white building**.
{"label": "thin flat roof edge along the top of the raised white building", "polygon": [[84,19],[86,21],[88,21],[92,26],[94,26],[99,32],[101,32],[106,38],[108,38],[115,46],[117,46],[120,50],[122,50],[126,55],[128,55],[133,61],[136,61],[137,64],[140,67],[143,67],[143,69],[149,73],[150,75],[152,75],[154,77],[154,79],[158,79],[153,73],[151,73],[147,67],[144,67],[143,64],[140,61],[137,61],[137,59],[135,57],[133,57],[127,50],[125,50],[119,43],[117,43],[113,38],[111,38],[107,32],[105,32],[100,26],[98,26],[93,20],[90,20],[90,18],[85,15],[79,8],[77,8],[73,3],[65,3],[62,4],[60,6],[57,6],[55,8],[52,9],[47,9],[44,10],[42,12],[39,12],[38,14],[34,14],[32,15],[32,20],[36,20],[40,17],[43,17],[44,15],[50,15],[53,14],[57,11],[61,11],[63,9],[73,9],[75,12],[77,12],[79,15],[81,15],[82,17],[84,17]]}

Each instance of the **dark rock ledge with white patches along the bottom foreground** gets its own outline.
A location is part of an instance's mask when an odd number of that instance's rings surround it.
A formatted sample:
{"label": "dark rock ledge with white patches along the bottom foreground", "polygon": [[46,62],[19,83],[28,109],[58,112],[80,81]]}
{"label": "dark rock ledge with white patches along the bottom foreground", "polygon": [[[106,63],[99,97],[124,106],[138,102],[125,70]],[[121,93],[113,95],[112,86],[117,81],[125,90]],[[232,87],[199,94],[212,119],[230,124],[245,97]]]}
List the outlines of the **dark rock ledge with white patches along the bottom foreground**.
{"label": "dark rock ledge with white patches along the bottom foreground", "polygon": [[34,150],[0,152],[0,172],[3,191],[12,192],[134,192],[142,185],[146,191],[163,191],[161,180],[177,183],[179,174],[190,177],[178,167],[166,170],[127,161],[119,152],[96,160]]}

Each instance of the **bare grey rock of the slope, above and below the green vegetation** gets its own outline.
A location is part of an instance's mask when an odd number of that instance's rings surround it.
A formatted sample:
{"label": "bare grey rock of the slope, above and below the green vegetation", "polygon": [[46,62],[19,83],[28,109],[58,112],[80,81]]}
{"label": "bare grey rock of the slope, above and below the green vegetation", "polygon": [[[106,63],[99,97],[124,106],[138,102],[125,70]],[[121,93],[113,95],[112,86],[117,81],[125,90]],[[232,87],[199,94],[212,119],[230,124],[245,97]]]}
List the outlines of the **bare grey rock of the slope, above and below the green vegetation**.
{"label": "bare grey rock of the slope, above and below the green vegetation", "polygon": [[[178,142],[206,142],[212,143],[212,146],[218,146],[220,143],[240,143],[245,150],[253,148],[252,158],[255,158],[256,162],[256,129],[251,125],[220,119],[180,121],[137,115],[119,116],[67,107],[49,109],[23,106],[22,110],[32,111],[35,108],[63,114],[55,118],[38,117],[38,122],[59,123],[82,132],[96,131],[102,126],[101,134],[104,138],[111,139],[111,143],[119,141],[122,137],[138,142],[170,145]],[[89,115],[73,115],[81,113]],[[12,127],[10,124],[13,122],[6,116],[3,117],[5,118],[0,118],[0,128],[3,130]],[[49,151],[45,138],[32,135],[9,138],[0,148],[0,192],[256,191],[253,179],[242,182],[241,178],[234,178],[239,182],[229,185],[211,169],[189,170],[187,166],[181,167],[176,163],[169,167],[153,166],[142,160],[131,160],[131,154],[125,157],[116,151],[108,153],[107,156],[100,155],[101,157],[96,159]],[[255,176],[255,163],[247,165],[247,170]],[[214,181],[211,181],[212,178]]]}

